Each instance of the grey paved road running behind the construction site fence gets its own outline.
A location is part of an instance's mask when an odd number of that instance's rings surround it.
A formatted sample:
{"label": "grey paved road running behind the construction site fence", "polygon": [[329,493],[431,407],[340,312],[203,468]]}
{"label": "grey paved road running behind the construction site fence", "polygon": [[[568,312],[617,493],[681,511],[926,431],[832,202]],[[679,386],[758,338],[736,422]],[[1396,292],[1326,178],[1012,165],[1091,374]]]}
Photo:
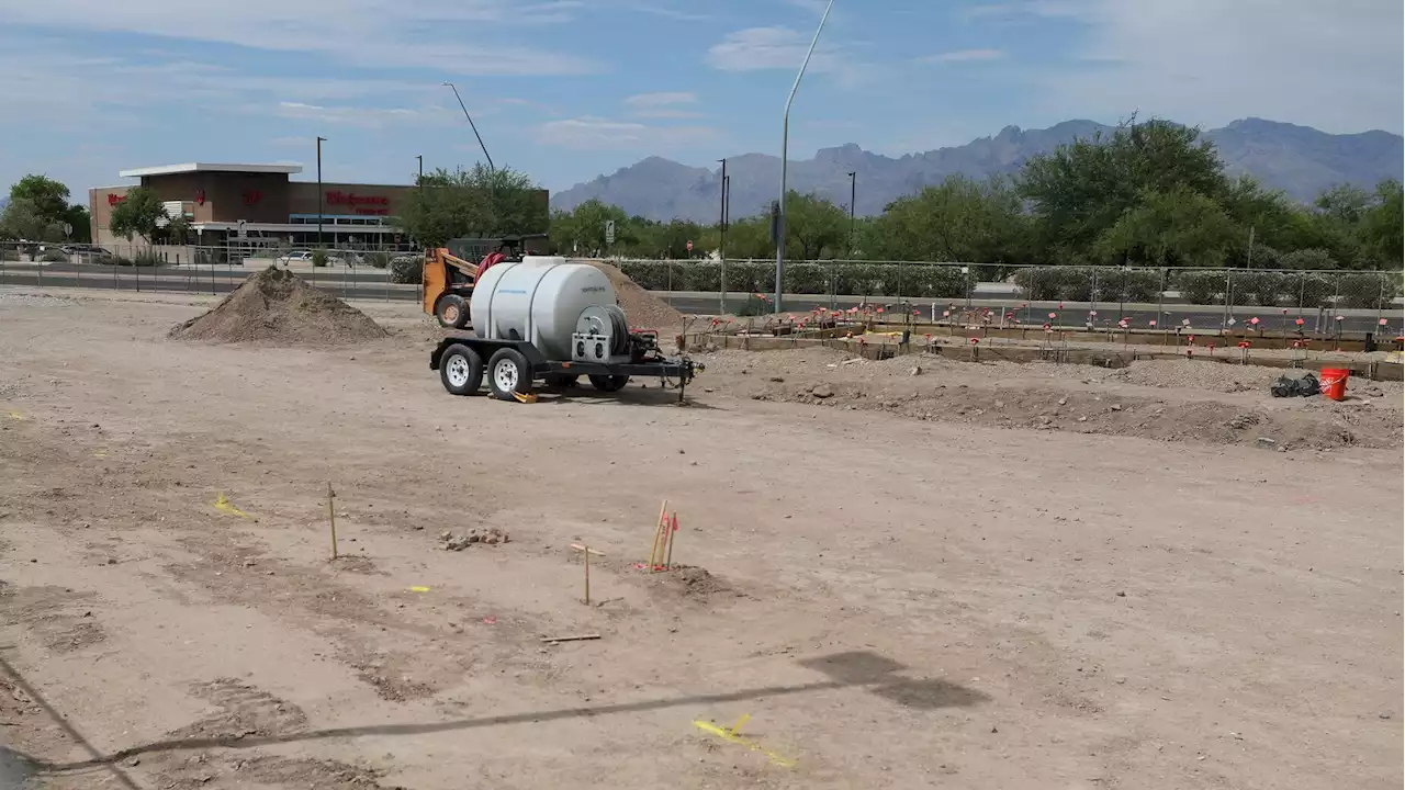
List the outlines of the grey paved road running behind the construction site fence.
{"label": "grey paved road running behind the construction site fence", "polygon": [[[163,267],[163,268],[131,268],[131,267],[100,267],[73,263],[59,263],[51,266],[6,263],[0,267],[0,285],[28,285],[45,288],[114,288],[122,291],[155,291],[155,292],[194,292],[194,294],[228,294],[243,283],[244,277],[254,270],[242,267]],[[302,277],[319,288],[325,288],[347,299],[375,299],[375,301],[417,301],[419,288],[416,285],[391,284],[381,270],[305,270]],[[700,292],[659,292],[674,308],[687,313],[708,315],[718,309],[717,294]],[[746,299],[746,294],[732,294],[733,305]],[[1027,308],[1017,298],[1010,298],[1007,288],[1000,284],[982,284],[978,288],[972,306],[991,308],[996,315],[1013,312],[1023,325],[1043,326],[1048,320],[1048,313],[1058,312],[1058,325],[1076,326],[1089,319],[1089,312],[1094,305],[1079,302],[1065,304],[1064,309],[1057,302],[1037,302]],[[813,308],[853,306],[860,304],[860,297],[787,297],[785,306],[790,311],[802,313]],[[896,299],[873,299],[880,304],[892,305]],[[912,308],[922,311],[922,318],[930,320],[932,299],[916,301]],[[937,302],[937,315],[946,309],[946,304]],[[957,301],[958,311],[965,308],[965,301]],[[1161,305],[1165,315],[1158,315],[1159,305],[1118,305],[1099,304],[1097,325],[1102,328],[1116,326],[1120,318],[1127,318],[1132,328],[1145,329],[1151,320],[1158,320],[1159,326],[1179,326],[1190,319],[1193,329],[1210,330],[1224,326],[1227,319],[1225,308],[1217,305],[1186,305],[1177,299],[1168,299]],[[1399,308],[1385,312],[1378,311],[1340,311],[1340,330],[1347,335],[1364,332],[1378,332],[1378,320],[1387,319],[1390,336],[1405,332],[1405,315]],[[1231,311],[1239,326],[1248,325],[1252,318],[1260,318],[1262,326],[1270,332],[1291,330],[1295,319],[1302,318],[1305,332],[1329,332],[1333,316],[1326,311],[1288,311],[1287,315],[1276,308],[1236,306]],[[999,320],[996,320],[999,323]]]}

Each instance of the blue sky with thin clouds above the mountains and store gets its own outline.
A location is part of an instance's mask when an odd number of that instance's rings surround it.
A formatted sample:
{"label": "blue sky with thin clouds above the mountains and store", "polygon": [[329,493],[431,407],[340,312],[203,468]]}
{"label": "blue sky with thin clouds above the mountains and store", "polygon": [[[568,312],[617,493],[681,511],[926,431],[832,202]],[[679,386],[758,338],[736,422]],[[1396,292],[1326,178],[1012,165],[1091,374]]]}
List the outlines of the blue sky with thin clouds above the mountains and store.
{"label": "blue sky with thin clouds above the mountains and store", "polygon": [[[559,191],[645,156],[780,153],[825,0],[0,0],[0,184],[299,163],[410,183],[493,160]],[[791,156],[902,155],[1138,112],[1405,129],[1399,0],[836,0]]]}

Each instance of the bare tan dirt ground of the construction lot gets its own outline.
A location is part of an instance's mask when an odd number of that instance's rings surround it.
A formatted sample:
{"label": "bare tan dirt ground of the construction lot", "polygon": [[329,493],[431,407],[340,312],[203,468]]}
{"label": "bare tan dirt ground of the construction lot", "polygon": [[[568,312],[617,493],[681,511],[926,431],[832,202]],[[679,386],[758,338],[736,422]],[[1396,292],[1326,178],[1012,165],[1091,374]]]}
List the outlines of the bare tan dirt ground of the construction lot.
{"label": "bare tan dirt ground of the construction lot", "polygon": [[209,305],[0,292],[0,786],[1401,787],[1395,387],[732,351],[528,406],[413,305],[164,337]]}

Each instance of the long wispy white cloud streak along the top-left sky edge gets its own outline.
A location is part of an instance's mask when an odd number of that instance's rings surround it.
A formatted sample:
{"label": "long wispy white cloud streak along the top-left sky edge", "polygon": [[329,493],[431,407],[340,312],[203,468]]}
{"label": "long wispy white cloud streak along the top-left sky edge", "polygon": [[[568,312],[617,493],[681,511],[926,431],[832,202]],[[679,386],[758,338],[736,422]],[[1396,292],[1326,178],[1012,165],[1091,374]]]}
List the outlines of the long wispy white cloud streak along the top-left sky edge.
{"label": "long wispy white cloud streak along the top-left sky edge", "polygon": [[[524,25],[569,22],[580,0],[243,0],[195,3],[173,11],[166,0],[45,0],[4,3],[0,28],[131,32],[254,49],[315,52],[370,67],[426,67],[455,75],[579,75],[600,69],[577,55],[537,49]],[[465,27],[479,35],[462,37]]]}

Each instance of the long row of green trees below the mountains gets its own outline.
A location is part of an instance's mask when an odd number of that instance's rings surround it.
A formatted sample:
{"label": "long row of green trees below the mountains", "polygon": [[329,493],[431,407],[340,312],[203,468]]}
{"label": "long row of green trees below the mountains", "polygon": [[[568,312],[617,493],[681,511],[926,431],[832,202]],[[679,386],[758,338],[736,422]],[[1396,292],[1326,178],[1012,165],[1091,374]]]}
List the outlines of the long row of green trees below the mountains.
{"label": "long row of green trees below the mountains", "polygon": [[[1013,177],[953,176],[850,225],[844,207],[791,193],[787,257],[1027,266],[1377,270],[1405,264],[1405,186],[1342,186],[1302,205],[1231,177],[1198,129],[1120,125],[1034,156]],[[606,222],[615,240],[606,245]],[[722,228],[653,222],[592,200],[551,218],[566,254],[702,257]],[[693,242],[693,252],[687,242]],[[769,215],[726,228],[729,259],[776,254]]]}

